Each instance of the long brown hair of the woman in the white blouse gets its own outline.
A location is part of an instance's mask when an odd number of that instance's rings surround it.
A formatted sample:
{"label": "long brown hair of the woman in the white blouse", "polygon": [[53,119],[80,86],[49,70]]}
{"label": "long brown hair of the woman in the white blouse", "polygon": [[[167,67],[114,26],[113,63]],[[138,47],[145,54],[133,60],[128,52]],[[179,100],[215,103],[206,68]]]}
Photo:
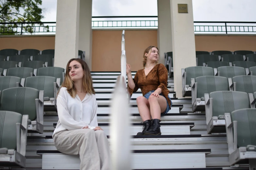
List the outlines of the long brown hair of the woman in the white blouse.
{"label": "long brown hair of the woman in the white blouse", "polygon": [[[88,65],[86,64],[85,61],[83,61],[80,58],[72,58],[68,61],[67,63],[67,67],[66,67],[66,74],[65,74],[65,79],[62,83],[62,87],[66,87],[67,88],[67,92],[74,98],[76,96],[76,88],[74,86],[74,82],[71,80],[70,76],[69,76],[69,71],[68,71],[68,67],[69,64],[72,61],[78,61],[81,65],[82,65],[82,69],[84,71],[84,76],[83,76],[83,89],[89,93],[89,94],[95,94],[93,85],[92,85],[92,76],[91,76],[91,72],[90,69],[88,67]],[[59,92],[58,92],[59,93]]]}

